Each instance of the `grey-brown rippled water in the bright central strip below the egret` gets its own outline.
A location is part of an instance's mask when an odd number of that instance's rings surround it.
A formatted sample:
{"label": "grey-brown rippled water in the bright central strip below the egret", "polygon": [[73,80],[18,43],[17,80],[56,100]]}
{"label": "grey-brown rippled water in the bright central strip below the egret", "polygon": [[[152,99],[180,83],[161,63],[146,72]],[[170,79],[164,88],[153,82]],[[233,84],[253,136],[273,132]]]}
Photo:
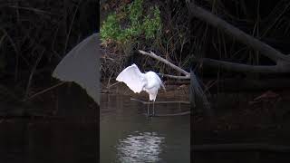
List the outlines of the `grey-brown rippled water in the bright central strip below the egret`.
{"label": "grey-brown rippled water in the bright central strip below the egret", "polygon": [[[152,105],[150,105],[152,106]],[[189,110],[189,105],[155,104],[158,114]],[[147,105],[130,96],[101,99],[101,163],[190,161],[190,118],[146,117]]]}

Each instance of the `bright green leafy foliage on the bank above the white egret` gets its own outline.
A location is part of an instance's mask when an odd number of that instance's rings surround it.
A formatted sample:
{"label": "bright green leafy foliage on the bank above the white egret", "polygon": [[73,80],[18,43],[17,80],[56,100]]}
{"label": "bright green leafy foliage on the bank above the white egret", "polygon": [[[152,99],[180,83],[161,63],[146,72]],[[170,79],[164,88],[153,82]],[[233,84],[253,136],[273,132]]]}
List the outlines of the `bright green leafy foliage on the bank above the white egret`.
{"label": "bright green leafy foliage on the bank above the white egret", "polygon": [[102,23],[102,43],[116,43],[121,48],[123,45],[133,46],[143,38],[147,41],[155,39],[161,30],[160,9],[155,5],[146,13],[142,5],[143,0],[136,0],[131,5],[122,6],[119,13],[109,14]]}

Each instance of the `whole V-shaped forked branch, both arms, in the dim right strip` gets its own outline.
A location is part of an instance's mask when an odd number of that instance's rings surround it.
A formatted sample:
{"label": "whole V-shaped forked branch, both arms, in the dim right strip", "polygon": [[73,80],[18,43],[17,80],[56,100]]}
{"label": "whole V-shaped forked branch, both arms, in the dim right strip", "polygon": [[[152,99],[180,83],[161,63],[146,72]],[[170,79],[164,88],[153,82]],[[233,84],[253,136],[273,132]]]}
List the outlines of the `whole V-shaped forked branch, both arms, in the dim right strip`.
{"label": "whole V-shaped forked branch, both arms, in the dim right strip", "polygon": [[234,62],[225,62],[218,61],[213,59],[204,58],[195,62],[202,62],[209,66],[221,67],[230,71],[237,72],[264,72],[264,73],[275,73],[275,72],[290,72],[290,56],[285,55],[284,53],[280,53],[275,50],[270,45],[259,41],[253,36],[244,33],[243,31],[237,29],[237,27],[228,24],[226,21],[218,18],[217,15],[209,13],[207,10],[195,5],[194,3],[190,3],[189,12],[191,16],[195,16],[198,19],[211,24],[218,29],[224,31],[225,33],[233,36],[237,41],[241,43],[245,43],[248,46],[252,47],[256,51],[261,52],[262,55],[265,55],[272,61],[274,61],[275,65],[247,65],[241,63]]}

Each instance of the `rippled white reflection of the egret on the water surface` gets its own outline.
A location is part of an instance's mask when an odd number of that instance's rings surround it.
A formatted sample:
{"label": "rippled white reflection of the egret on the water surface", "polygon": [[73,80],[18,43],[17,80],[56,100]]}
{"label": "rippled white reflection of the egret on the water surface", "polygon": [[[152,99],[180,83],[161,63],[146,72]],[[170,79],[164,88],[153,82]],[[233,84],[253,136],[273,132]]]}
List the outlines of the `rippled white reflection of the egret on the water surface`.
{"label": "rippled white reflection of the egret on the water surface", "polygon": [[129,135],[117,145],[118,162],[159,162],[163,139],[156,132]]}

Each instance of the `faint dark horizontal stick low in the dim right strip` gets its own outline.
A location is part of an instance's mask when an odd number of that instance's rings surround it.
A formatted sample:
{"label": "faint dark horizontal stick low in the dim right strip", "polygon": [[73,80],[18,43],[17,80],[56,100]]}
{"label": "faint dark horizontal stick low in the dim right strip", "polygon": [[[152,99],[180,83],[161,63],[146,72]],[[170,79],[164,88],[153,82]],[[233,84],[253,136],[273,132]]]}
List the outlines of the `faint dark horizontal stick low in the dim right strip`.
{"label": "faint dark horizontal stick low in the dim right strip", "polygon": [[272,151],[272,152],[290,152],[290,146],[270,145],[270,144],[203,144],[193,145],[195,152],[203,151]]}

